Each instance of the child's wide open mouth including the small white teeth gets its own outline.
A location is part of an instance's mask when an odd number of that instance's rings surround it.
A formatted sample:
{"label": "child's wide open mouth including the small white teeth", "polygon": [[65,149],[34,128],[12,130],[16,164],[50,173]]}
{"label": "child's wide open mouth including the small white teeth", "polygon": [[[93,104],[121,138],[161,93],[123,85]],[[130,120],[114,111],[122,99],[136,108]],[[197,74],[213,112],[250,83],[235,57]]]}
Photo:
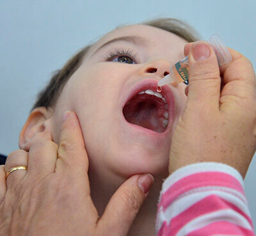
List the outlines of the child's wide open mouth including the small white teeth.
{"label": "child's wide open mouth including the small white teeth", "polygon": [[142,90],[128,100],[123,108],[127,122],[156,132],[164,132],[169,123],[166,99],[156,90]]}

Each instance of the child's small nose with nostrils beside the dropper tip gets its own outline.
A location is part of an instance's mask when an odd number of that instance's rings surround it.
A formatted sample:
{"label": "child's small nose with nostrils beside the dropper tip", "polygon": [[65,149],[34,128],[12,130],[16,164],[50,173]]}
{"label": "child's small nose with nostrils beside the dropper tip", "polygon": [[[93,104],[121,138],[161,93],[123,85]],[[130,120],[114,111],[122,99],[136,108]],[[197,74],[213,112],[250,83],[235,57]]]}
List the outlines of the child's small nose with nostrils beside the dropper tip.
{"label": "child's small nose with nostrils beside the dropper tip", "polygon": [[170,74],[171,64],[166,59],[156,59],[154,61],[150,61],[147,64],[144,64],[138,74],[140,76],[154,74],[154,76],[162,79],[164,76]]}

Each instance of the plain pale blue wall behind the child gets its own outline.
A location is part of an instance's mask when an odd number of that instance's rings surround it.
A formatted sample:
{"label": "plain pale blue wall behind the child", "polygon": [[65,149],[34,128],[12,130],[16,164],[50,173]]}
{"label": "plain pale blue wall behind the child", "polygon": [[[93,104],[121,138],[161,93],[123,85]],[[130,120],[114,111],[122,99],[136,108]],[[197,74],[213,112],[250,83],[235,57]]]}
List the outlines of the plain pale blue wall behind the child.
{"label": "plain pale blue wall behind the child", "polygon": [[[52,72],[116,26],[177,17],[205,40],[218,32],[256,68],[255,9],[255,0],[0,0],[0,153],[18,148],[19,131]],[[245,189],[256,226],[255,159]]]}

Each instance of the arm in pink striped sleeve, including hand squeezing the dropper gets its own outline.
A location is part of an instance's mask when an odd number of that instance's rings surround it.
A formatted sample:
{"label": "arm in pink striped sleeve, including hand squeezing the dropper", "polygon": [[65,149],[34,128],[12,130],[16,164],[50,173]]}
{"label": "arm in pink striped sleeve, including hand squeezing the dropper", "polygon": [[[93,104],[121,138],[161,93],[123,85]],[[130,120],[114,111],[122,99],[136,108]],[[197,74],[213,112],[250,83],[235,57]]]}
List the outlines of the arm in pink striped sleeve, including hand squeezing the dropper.
{"label": "arm in pink striped sleeve, including hand squeezing the dropper", "polygon": [[243,178],[256,149],[256,79],[252,63],[230,53],[219,68],[207,43],[184,48],[188,100],[173,133],[159,236],[254,235]]}

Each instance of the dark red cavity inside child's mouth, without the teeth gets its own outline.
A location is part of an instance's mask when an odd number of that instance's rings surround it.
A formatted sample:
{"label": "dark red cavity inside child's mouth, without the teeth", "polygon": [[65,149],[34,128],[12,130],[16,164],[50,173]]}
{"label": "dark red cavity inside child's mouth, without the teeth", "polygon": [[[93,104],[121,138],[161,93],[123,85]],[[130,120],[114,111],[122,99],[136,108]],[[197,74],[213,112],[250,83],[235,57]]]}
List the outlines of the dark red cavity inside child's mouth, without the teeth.
{"label": "dark red cavity inside child's mouth, without the teeth", "polygon": [[165,128],[159,119],[159,111],[154,100],[134,102],[130,100],[123,109],[124,117],[129,123],[139,125],[156,132],[163,132]]}

